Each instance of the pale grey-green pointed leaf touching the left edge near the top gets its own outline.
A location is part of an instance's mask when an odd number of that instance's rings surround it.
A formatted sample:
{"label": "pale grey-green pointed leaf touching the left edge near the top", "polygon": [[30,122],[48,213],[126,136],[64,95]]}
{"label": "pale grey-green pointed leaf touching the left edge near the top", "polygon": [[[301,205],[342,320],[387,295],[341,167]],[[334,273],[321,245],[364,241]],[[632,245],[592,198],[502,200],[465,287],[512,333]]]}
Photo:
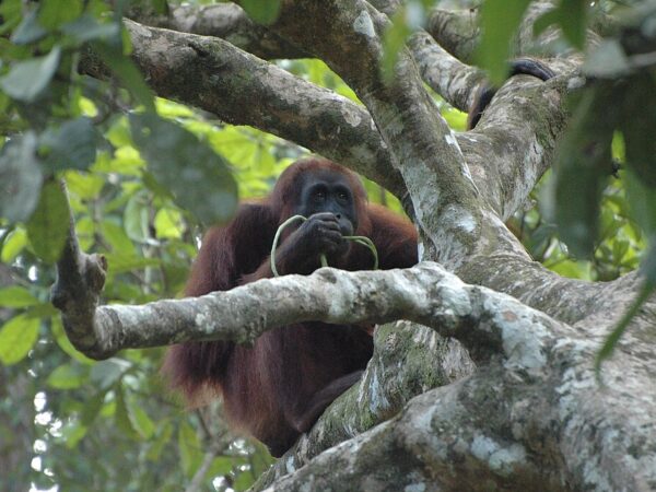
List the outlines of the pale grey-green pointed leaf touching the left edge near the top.
{"label": "pale grey-green pointed leaf touching the left edge near the top", "polygon": [[32,103],[50,83],[60,57],[61,48],[55,45],[45,57],[19,61],[0,78],[0,89],[14,99]]}

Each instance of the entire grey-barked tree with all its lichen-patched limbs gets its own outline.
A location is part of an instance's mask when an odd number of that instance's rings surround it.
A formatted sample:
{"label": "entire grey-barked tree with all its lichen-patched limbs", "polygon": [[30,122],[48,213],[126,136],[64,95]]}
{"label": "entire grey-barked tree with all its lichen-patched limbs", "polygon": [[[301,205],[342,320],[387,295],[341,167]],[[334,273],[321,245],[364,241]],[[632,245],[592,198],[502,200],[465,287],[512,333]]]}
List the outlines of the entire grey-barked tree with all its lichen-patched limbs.
{"label": "entire grey-barked tree with all its lichen-patched limbs", "polygon": [[[279,20],[263,27],[221,3],[176,8],[167,19],[133,14],[125,24],[159,95],[297,142],[403,199],[423,261],[99,306],[106,265],[71,235],[54,288],[71,341],[103,359],[186,340],[248,343],[292,321],[397,321],[376,330],[360,384],[256,490],[656,490],[655,300],[597,375],[596,354],[640,278],[559,277],[504,224],[552,163],[569,116],[564,97],[582,84],[579,60],[544,60],[557,72],[548,82],[513,78],[477,128],[456,134],[424,83],[469,106],[484,83],[467,65],[476,12],[434,11],[386,82],[382,35],[397,4],[284,0]],[[531,3],[518,56],[534,49],[532,22],[552,7]],[[263,61],[301,56],[326,61],[364,106]],[[103,75],[93,57],[81,69]]]}

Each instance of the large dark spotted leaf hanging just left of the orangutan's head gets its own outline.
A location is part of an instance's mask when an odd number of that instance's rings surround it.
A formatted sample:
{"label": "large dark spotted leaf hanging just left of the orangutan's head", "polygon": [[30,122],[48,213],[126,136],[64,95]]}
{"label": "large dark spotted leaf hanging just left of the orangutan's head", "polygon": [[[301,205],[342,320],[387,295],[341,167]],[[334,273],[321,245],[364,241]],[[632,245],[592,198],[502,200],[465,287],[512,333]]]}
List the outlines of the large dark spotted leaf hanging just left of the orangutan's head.
{"label": "large dark spotted leaf hanging just left of the orangutan's head", "polygon": [[189,131],[154,115],[130,115],[130,126],[150,171],[179,207],[206,224],[233,216],[237,185],[221,155]]}

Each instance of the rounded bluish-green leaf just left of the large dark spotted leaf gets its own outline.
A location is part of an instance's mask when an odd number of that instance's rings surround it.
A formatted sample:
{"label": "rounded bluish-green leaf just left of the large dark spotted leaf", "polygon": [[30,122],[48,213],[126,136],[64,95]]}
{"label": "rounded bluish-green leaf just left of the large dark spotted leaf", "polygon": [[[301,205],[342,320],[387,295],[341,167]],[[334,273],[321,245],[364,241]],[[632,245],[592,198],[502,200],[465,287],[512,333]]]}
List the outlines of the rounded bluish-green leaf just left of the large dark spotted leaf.
{"label": "rounded bluish-green leaf just left of the large dark spotted leaf", "polygon": [[65,168],[86,169],[94,161],[98,134],[90,118],[80,117],[50,128],[39,139],[44,165],[50,172]]}

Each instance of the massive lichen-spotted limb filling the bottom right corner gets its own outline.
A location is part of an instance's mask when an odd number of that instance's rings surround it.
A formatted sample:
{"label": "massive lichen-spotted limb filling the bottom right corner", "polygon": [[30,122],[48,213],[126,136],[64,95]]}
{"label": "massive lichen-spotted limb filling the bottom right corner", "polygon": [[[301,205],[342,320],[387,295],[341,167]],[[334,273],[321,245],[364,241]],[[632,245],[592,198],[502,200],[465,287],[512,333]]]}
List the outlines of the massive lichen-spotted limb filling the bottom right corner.
{"label": "massive lichen-spotted limb filling the bottom right corner", "polygon": [[614,389],[600,390],[594,353],[582,333],[547,348],[549,368],[538,374],[493,362],[418,396],[307,466],[290,466],[270,490],[339,489],[344,481],[380,491],[651,490],[656,450],[643,433],[653,429],[656,399],[637,388],[653,370],[623,354],[604,368]]}

